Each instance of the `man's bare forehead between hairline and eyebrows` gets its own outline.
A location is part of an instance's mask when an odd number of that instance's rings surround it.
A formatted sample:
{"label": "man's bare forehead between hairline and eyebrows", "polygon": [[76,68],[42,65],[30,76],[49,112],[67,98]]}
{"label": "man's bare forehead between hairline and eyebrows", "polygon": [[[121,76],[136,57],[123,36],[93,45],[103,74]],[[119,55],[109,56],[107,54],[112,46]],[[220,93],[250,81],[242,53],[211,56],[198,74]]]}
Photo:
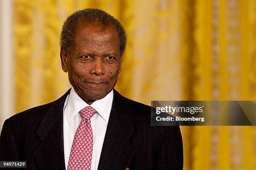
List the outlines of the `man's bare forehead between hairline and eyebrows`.
{"label": "man's bare forehead between hairline and eyebrows", "polygon": [[80,21],[76,26],[74,41],[120,41],[113,24],[103,25],[95,21]]}

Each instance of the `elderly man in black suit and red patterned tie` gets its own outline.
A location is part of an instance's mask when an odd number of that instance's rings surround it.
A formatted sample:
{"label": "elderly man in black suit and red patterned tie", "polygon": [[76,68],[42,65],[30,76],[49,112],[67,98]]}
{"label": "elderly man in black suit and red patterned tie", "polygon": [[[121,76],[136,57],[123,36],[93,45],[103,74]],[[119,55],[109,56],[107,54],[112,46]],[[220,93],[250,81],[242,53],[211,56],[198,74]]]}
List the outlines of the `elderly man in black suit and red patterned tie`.
{"label": "elderly man in black suit and red patterned tie", "polygon": [[126,44],[118,20],[98,9],[77,11],[60,44],[72,89],[7,119],[0,161],[26,161],[33,170],[182,169],[179,126],[151,126],[151,107],[113,89]]}

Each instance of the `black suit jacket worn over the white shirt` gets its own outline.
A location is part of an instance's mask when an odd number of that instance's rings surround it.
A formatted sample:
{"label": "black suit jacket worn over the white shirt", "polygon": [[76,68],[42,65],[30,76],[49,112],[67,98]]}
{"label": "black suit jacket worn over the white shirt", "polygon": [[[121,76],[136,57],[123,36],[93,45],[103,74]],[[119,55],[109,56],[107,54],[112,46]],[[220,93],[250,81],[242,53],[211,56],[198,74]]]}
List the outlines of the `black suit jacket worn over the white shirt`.
{"label": "black suit jacket worn over the white shirt", "polygon": [[[27,161],[30,170],[64,170],[63,107],[54,102],[7,119],[0,136],[0,161]],[[151,107],[114,90],[98,170],[181,170],[179,126],[151,126]]]}

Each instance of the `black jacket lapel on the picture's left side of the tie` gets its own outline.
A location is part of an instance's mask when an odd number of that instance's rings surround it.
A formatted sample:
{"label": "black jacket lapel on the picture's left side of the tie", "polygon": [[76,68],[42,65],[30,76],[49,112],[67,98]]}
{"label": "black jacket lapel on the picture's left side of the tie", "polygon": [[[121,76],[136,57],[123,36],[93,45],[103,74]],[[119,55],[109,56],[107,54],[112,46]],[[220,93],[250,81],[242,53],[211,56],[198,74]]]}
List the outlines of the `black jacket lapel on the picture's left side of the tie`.
{"label": "black jacket lapel on the picture's left side of the tie", "polygon": [[38,169],[65,169],[63,107],[69,93],[52,103],[36,131],[41,140],[34,150]]}

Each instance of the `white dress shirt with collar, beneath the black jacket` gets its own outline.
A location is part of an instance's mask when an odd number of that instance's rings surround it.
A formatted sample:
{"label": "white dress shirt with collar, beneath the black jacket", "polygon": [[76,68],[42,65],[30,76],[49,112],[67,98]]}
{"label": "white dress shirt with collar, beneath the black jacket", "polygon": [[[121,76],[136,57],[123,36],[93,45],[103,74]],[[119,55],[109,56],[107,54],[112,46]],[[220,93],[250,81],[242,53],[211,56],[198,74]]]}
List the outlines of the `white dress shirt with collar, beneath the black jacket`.
{"label": "white dress shirt with collar, beneath the black jacket", "polygon": [[[113,102],[113,90],[103,99],[94,101],[90,106],[97,111],[91,118],[93,132],[93,150],[91,170],[97,170],[100,153],[102,150],[105,133],[107,130],[108,119]],[[69,162],[69,155],[74,140],[74,135],[81,122],[79,111],[89,106],[74,91],[72,87],[67,96],[63,108],[63,135],[64,135],[64,157],[66,169]]]}

